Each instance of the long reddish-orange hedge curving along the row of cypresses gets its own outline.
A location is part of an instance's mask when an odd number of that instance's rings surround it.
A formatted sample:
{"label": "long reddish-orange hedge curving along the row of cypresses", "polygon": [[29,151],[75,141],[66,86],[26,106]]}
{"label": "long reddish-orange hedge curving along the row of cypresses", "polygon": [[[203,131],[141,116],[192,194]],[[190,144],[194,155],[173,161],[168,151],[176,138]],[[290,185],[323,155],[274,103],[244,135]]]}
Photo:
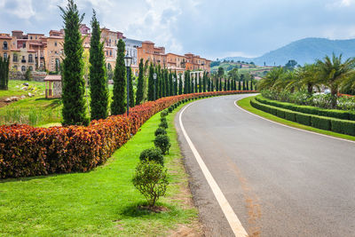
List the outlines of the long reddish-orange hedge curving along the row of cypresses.
{"label": "long reddish-orange hedge curving along the row of cypresses", "polygon": [[218,91],[178,95],[131,108],[130,116],[110,116],[88,127],[49,129],[0,126],[0,178],[88,171],[106,162],[152,115],[182,99],[254,91]]}

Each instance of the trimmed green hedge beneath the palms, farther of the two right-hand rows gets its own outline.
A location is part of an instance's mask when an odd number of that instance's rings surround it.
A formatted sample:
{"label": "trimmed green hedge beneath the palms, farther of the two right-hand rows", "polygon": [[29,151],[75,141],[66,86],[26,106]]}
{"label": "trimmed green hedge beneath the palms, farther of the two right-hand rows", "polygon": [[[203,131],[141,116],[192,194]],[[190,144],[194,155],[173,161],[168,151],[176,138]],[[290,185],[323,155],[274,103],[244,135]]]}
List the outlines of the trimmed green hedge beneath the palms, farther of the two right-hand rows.
{"label": "trimmed green hedge beneath the palms, farther of the two right-hand rows", "polygon": [[289,109],[295,112],[300,112],[309,115],[319,115],[324,117],[332,117],[343,120],[355,121],[355,113],[351,111],[343,111],[337,109],[324,109],[319,107],[298,106],[292,103],[280,102],[277,100],[265,99],[263,96],[256,96],[256,101],[272,107],[280,107]]}

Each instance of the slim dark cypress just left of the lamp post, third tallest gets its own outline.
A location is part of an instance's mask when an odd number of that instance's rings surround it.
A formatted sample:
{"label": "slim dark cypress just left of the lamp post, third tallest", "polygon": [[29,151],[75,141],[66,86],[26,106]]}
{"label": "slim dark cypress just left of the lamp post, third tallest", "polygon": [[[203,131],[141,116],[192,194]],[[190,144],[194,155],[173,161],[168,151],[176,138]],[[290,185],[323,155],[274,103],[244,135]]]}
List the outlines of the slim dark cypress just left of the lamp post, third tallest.
{"label": "slim dark cypress just left of the lamp post, third tallest", "polygon": [[125,44],[122,39],[117,43],[116,67],[114,67],[114,96],[111,103],[111,115],[123,115],[126,112],[126,66],[124,64]]}

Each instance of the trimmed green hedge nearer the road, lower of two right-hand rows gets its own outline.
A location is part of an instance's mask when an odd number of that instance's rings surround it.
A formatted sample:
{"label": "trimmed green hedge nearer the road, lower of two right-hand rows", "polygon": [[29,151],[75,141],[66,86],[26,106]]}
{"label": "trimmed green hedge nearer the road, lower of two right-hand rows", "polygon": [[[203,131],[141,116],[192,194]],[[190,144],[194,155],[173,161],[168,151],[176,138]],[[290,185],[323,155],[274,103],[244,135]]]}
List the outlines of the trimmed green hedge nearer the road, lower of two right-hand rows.
{"label": "trimmed green hedge nearer the road, lower of two right-hand rows", "polygon": [[332,130],[338,133],[355,136],[354,121],[329,118],[319,115],[307,115],[280,107],[264,105],[263,103],[256,101],[256,99],[251,99],[250,105],[256,109],[260,109],[266,113],[276,115],[288,121],[298,122],[321,130]]}

